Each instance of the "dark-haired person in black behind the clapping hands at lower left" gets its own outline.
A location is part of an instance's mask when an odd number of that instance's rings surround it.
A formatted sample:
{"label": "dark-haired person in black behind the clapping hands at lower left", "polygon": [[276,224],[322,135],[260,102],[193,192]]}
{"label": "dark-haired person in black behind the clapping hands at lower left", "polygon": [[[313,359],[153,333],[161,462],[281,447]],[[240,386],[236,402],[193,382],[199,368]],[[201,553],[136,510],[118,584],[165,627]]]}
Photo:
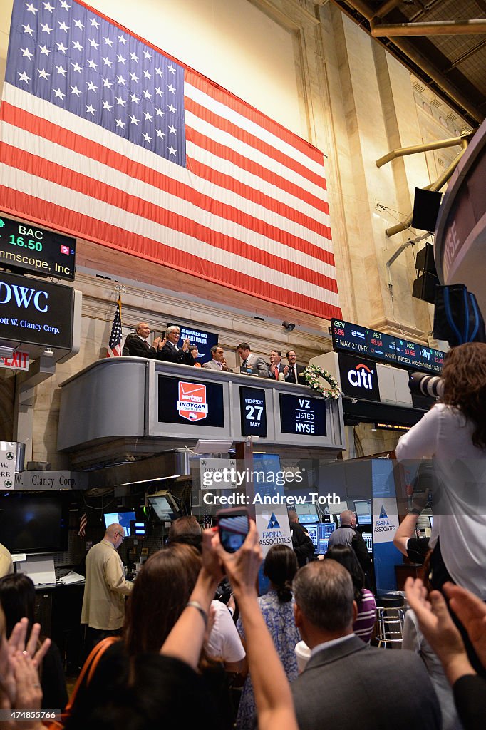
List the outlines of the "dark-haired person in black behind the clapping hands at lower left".
{"label": "dark-haired person in black behind the clapping hands at lower left", "polygon": [[[7,638],[21,618],[28,618],[28,635],[34,626],[36,591],[34,583],[23,573],[12,573],[0,579],[0,604],[5,614]],[[52,642],[39,670],[42,686],[42,709],[63,710],[68,701],[61,655]]]}

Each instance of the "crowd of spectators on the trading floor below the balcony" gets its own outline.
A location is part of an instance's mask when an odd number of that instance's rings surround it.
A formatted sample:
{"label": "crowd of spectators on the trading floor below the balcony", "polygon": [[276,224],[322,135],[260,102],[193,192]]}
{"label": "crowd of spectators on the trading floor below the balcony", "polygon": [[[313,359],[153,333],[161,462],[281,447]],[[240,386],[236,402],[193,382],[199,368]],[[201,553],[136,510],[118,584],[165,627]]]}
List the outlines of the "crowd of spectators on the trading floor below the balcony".
{"label": "crowd of spectators on the trading floor below the balcony", "polygon": [[[93,603],[88,596],[83,615],[100,633],[91,637],[96,645],[62,726],[484,728],[486,345],[451,350],[443,379],[442,402],[397,447],[401,460],[439,462],[434,508],[448,507],[434,512],[427,546],[413,537],[420,510],[396,534],[401,550],[425,559],[424,580],[406,582],[403,650],[370,645],[374,596],[365,587],[352,514],[343,512],[323,560],[310,550],[299,553],[305,530],[290,515],[295,549],[274,545],[266,554],[269,591],[263,596],[253,522],[242,548],[227,553],[217,531],[201,532],[193,517],[175,520],[168,545],[147,560],[133,584],[117,555],[124,530],[114,524],[88,553]],[[446,459],[452,466],[440,468]],[[223,580],[231,586],[228,604],[215,599]],[[0,708],[7,712],[1,730],[18,727],[8,712],[40,710],[45,702],[62,709],[66,699],[56,650],[34,623],[33,591],[26,576],[0,579]],[[234,675],[244,678],[239,707]],[[23,723],[26,730],[45,728],[37,717]]]}

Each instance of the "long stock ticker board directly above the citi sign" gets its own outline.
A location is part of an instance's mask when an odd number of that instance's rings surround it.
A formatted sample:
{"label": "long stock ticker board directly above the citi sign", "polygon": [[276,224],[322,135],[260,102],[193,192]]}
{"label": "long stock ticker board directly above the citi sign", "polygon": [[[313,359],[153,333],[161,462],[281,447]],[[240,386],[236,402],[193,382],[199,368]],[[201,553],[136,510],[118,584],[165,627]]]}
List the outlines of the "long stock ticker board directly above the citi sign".
{"label": "long stock ticker board directly above the citi sign", "polygon": [[367,356],[408,370],[440,373],[444,364],[441,350],[351,322],[332,319],[331,335],[334,350]]}

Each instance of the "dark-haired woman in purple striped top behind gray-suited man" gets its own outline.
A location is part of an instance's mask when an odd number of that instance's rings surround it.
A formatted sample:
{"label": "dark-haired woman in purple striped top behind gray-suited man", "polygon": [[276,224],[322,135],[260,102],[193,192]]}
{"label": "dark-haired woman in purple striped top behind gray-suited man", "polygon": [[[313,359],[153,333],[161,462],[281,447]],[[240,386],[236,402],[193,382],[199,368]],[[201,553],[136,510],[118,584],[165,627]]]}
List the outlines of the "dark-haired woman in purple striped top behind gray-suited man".
{"label": "dark-haired woman in purple striped top behind gray-suited man", "polygon": [[352,630],[365,644],[369,644],[371,634],[373,634],[377,604],[375,603],[373,593],[364,587],[365,577],[363,568],[358,562],[356,553],[348,545],[333,545],[325,553],[325,559],[327,560],[328,558],[344,566],[352,577],[352,585],[355,589],[355,602],[358,606],[358,615],[356,616],[355,623],[352,624]]}

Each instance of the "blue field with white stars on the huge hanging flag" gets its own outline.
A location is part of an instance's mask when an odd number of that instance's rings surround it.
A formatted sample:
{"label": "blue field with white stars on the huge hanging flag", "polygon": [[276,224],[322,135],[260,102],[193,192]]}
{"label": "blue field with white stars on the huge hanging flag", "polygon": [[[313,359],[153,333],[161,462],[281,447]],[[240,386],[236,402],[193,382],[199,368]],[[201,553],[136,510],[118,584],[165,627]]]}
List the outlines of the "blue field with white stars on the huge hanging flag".
{"label": "blue field with white stars on the huge hanging flag", "polygon": [[184,69],[73,0],[15,0],[6,81],[185,166]]}

